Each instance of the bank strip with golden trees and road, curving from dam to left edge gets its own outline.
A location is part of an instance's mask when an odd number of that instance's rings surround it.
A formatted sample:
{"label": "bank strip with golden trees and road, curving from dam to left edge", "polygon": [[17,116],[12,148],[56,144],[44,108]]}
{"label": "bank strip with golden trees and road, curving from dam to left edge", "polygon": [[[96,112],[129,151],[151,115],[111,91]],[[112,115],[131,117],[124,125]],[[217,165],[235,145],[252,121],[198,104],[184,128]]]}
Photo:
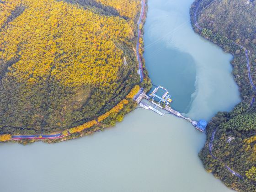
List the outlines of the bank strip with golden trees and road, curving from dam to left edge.
{"label": "bank strip with golden trees and road, curving from dam to left edge", "polygon": [[18,141],[21,144],[33,143],[41,140],[46,143],[57,143],[69,139],[76,139],[84,135],[92,134],[96,131],[103,130],[104,128],[114,126],[116,122],[121,122],[123,116],[132,111],[137,103],[133,101],[133,97],[139,91],[139,85],[135,85],[129,94],[120,101],[115,107],[108,112],[97,117],[95,120],[86,122],[74,128],[64,130],[62,133],[52,133],[48,135],[36,134],[36,135],[0,135],[0,142],[15,142]]}

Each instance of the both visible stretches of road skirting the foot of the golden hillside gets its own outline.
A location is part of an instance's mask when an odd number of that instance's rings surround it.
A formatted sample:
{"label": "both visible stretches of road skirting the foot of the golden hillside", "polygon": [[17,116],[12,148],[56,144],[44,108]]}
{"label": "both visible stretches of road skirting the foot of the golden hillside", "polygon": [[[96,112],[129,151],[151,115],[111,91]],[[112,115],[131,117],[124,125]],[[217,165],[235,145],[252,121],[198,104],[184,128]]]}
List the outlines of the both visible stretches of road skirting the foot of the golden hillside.
{"label": "both visible stretches of road skirting the foot of the golden hillside", "polygon": [[[140,11],[140,16],[139,16],[139,21],[137,23],[138,27],[138,39],[137,39],[137,59],[139,62],[139,75],[140,75],[140,82],[143,81],[143,67],[142,67],[142,62],[141,58],[139,56],[139,38],[141,35],[141,30],[139,29],[139,25],[141,24],[143,15],[144,15],[144,9],[145,9],[145,0],[141,0],[141,11]],[[68,136],[70,133],[68,132],[67,135],[63,135],[62,133],[56,133],[56,134],[50,134],[50,135],[13,135],[11,136],[11,140],[21,140],[21,139],[36,139],[36,140],[44,140],[44,139],[60,139],[63,137]]]}

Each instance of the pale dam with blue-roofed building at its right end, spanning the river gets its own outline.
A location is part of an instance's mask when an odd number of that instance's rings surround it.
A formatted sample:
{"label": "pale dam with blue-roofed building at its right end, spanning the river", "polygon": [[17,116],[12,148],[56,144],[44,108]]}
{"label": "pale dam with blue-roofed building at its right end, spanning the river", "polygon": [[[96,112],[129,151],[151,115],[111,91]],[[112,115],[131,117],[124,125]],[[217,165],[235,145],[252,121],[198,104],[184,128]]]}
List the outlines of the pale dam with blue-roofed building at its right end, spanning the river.
{"label": "pale dam with blue-roofed building at its right end, spanning the river", "polygon": [[[148,102],[142,101],[142,99],[148,100],[150,104]],[[169,94],[169,91],[167,89],[160,85],[155,88],[154,91],[152,91],[149,95],[144,92],[143,88],[140,88],[139,92],[133,97],[133,100],[136,101],[140,107],[143,107],[147,110],[152,110],[159,115],[165,115],[169,113],[175,115],[176,117],[186,119],[187,121],[192,123],[192,125],[199,131],[204,132],[207,126],[207,122],[205,120],[200,119],[198,122],[193,121],[191,118],[185,117],[180,112],[171,108],[171,95]],[[161,111],[166,112],[164,113]]]}

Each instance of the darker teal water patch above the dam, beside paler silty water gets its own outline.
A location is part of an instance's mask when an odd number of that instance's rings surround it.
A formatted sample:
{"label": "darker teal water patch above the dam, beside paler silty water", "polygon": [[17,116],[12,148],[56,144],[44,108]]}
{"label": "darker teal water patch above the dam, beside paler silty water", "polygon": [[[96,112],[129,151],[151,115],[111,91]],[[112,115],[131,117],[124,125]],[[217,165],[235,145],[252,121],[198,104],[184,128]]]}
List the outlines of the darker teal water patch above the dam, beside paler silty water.
{"label": "darker teal water patch above the dam, beside paler silty water", "polygon": [[188,112],[196,80],[196,66],[192,56],[178,49],[166,48],[164,43],[159,42],[147,48],[144,58],[154,85],[169,90],[174,109]]}

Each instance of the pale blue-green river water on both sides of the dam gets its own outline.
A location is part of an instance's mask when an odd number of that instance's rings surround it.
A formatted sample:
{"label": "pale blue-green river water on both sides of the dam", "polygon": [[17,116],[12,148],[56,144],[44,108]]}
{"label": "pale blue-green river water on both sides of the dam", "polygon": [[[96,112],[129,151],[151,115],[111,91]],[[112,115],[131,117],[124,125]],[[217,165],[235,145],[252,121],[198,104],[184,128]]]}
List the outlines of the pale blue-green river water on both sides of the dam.
{"label": "pale blue-green river water on both sides of the dam", "polygon": [[[173,108],[209,120],[240,101],[232,59],[199,37],[189,21],[192,0],[149,0],[144,43],[155,85]],[[225,192],[203,169],[205,134],[187,121],[136,109],[103,132],[58,144],[0,144],[3,192]]]}

